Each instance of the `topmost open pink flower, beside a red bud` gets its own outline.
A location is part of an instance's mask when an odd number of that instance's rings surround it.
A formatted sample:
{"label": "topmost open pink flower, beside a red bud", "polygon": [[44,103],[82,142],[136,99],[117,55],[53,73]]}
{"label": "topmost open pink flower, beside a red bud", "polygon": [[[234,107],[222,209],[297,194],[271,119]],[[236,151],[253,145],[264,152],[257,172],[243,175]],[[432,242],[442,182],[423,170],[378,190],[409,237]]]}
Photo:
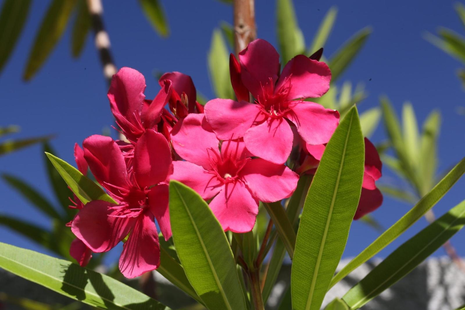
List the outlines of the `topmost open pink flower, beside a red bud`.
{"label": "topmost open pink flower, beside a red bud", "polygon": [[[331,72],[324,62],[297,55],[279,73],[279,54],[265,40],[254,40],[230,58],[231,83],[239,101],[213,99],[205,116],[220,140],[243,138],[255,156],[284,163],[292,149],[290,124],[311,145],[329,141],[339,123],[337,111],[306,98],[329,89]],[[255,98],[248,101],[248,91]]]}

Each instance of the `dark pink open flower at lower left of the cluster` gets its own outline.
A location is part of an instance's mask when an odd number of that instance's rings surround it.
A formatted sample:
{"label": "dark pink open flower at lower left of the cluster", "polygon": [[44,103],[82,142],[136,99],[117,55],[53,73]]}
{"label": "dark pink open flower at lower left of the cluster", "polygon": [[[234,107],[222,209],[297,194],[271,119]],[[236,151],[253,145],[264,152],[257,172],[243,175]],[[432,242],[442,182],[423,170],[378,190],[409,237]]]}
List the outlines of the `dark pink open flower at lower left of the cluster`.
{"label": "dark pink open flower at lower left of the cluster", "polygon": [[96,180],[118,203],[88,202],[73,219],[74,235],[93,252],[105,252],[129,234],[120,256],[123,275],[133,278],[158,268],[154,217],[165,239],[171,237],[167,180],[173,164],[166,138],[146,129],[134,145],[131,166],[124,148],[110,137],[90,136],[83,149]]}

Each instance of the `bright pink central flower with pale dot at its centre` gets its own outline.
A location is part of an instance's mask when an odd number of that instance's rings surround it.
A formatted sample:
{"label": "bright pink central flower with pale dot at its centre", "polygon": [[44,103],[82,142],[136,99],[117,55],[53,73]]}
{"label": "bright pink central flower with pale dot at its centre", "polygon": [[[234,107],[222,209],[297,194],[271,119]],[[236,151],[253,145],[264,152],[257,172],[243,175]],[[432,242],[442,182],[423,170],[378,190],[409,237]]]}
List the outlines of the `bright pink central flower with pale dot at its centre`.
{"label": "bright pink central flower with pale dot at its centre", "polygon": [[242,140],[220,142],[203,114],[189,114],[172,131],[173,148],[184,161],[173,162],[171,179],[213,200],[210,208],[224,230],[252,230],[259,201],[292,195],[299,176],[282,164],[251,158]]}

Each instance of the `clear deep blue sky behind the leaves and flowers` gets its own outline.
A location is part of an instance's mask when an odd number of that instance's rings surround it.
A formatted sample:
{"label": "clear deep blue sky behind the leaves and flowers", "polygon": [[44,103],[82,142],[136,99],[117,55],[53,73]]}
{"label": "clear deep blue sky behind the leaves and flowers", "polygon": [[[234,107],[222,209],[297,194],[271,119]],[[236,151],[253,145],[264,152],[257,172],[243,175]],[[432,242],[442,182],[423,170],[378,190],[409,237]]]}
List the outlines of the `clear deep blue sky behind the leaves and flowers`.
{"label": "clear deep blue sky behind the leaves and flowers", "polygon": [[[214,0],[162,0],[171,27],[171,36],[161,39],[142,15],[137,1],[104,1],[105,24],[110,34],[112,51],[118,67],[133,67],[146,76],[146,96],[153,98],[159,86],[153,72],[182,71],[193,77],[199,92],[213,97],[206,68],[206,54],[211,34],[221,20],[232,22],[232,7]],[[276,46],[276,18],[274,0],[256,1],[258,36]],[[312,40],[319,22],[329,9],[339,8],[331,37],[325,46],[331,55],[353,33],[372,26],[373,33],[363,51],[341,77],[338,84],[350,80],[364,82],[369,97],[360,105],[360,111],[377,106],[379,95],[387,94],[399,112],[403,101],[412,101],[419,121],[433,109],[439,108],[443,125],[439,141],[441,170],[458,162],[465,155],[465,116],[458,107],[464,106],[465,93],[455,70],[460,67],[438,48],[422,38],[426,31],[435,32],[446,26],[465,33],[453,10],[452,1],[372,1],[296,0],[299,26],[306,42]],[[17,137],[56,134],[52,141],[58,155],[73,162],[73,145],[89,135],[99,134],[113,121],[106,98],[106,81],[101,74],[100,62],[89,36],[85,50],[78,60],[70,55],[70,31],[54,50],[46,65],[32,81],[21,80],[29,48],[49,1],[33,1],[30,18],[13,57],[0,75],[0,125],[17,124],[22,132]],[[374,142],[385,138],[380,126],[372,137]],[[0,171],[11,173],[32,183],[53,199],[47,181],[39,146],[0,157]],[[384,169],[383,182],[403,183]],[[434,208],[443,214],[462,199],[465,179]],[[25,202],[20,195],[0,182],[0,210],[39,225],[51,223]],[[385,198],[373,216],[387,228],[409,209],[408,204]],[[388,255],[392,249],[425,227],[424,219],[405,235],[380,253]],[[363,223],[354,222],[344,256],[354,256],[365,248],[378,233]],[[459,232],[452,243],[465,256],[465,232]],[[0,228],[0,241],[20,247],[43,251],[27,239]],[[112,257],[119,255],[113,251]],[[435,255],[445,255],[439,249]]]}

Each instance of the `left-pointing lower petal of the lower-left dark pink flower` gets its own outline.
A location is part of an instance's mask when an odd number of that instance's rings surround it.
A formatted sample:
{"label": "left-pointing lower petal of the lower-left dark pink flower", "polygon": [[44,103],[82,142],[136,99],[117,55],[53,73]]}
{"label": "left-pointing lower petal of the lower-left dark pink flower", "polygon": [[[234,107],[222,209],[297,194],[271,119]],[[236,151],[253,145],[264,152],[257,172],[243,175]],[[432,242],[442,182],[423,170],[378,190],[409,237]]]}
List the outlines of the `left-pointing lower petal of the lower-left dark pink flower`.
{"label": "left-pointing lower petal of the lower-left dark pink flower", "polygon": [[117,217],[113,206],[103,200],[87,202],[73,219],[71,231],[94,252],[112,249],[134,225],[133,217]]}

